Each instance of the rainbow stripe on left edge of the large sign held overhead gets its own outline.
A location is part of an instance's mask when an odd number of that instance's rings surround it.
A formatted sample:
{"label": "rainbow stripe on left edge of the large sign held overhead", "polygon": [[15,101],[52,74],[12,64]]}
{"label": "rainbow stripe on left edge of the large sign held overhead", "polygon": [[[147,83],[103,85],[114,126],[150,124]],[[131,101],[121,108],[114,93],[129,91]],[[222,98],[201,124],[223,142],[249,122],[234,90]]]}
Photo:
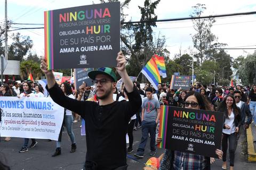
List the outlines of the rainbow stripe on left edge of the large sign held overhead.
{"label": "rainbow stripe on left edge of the large sign held overhead", "polygon": [[53,69],[53,11],[44,12],[44,55],[48,69]]}

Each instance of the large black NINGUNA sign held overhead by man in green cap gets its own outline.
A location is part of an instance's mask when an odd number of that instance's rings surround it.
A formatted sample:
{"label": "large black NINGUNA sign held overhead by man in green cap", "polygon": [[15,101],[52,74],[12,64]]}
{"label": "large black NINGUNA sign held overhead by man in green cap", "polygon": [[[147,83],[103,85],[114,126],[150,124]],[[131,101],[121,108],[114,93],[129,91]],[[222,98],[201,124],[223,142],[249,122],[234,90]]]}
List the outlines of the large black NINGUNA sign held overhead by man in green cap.
{"label": "large black NINGUNA sign held overhead by man in green cap", "polygon": [[116,66],[120,2],[44,12],[48,69]]}

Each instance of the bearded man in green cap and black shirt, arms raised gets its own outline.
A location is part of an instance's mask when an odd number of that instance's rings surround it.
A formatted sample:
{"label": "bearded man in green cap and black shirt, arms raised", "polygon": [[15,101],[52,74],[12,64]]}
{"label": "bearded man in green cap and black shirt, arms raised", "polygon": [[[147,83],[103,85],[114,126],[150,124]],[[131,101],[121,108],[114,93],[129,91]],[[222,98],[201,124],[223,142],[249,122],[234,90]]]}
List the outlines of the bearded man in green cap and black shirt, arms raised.
{"label": "bearded man in green cap and black shirt, arms raised", "polygon": [[41,70],[47,79],[46,89],[53,101],[81,115],[85,120],[86,170],[127,169],[125,135],[131,116],[140,109],[141,98],[125,70],[126,60],[122,52],[117,54],[116,60],[116,71],[124,81],[129,101],[114,101],[113,91],[117,79],[116,74],[108,67],[88,74],[93,80],[98,103],[66,97],[55,82],[52,71],[47,70],[46,61],[41,61]]}

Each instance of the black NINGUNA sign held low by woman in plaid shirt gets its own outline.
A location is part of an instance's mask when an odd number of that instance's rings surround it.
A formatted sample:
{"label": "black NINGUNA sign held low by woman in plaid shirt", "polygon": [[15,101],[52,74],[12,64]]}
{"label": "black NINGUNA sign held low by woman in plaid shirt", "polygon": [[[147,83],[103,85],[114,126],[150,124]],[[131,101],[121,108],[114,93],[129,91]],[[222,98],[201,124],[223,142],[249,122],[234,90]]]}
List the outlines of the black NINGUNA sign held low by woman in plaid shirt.
{"label": "black NINGUNA sign held low by woman in plaid shirt", "polygon": [[215,157],[220,149],[223,113],[161,106],[159,148]]}

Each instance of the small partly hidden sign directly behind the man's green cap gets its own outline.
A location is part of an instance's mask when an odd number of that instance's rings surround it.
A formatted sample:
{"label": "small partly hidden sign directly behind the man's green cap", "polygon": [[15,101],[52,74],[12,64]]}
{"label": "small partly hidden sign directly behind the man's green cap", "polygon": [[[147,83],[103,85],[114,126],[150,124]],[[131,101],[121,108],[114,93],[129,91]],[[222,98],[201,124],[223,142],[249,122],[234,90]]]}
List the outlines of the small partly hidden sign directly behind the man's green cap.
{"label": "small partly hidden sign directly behind the man's green cap", "polygon": [[79,89],[79,86],[85,82],[87,86],[92,86],[92,79],[88,77],[88,73],[92,71],[92,68],[75,69],[75,88]]}

